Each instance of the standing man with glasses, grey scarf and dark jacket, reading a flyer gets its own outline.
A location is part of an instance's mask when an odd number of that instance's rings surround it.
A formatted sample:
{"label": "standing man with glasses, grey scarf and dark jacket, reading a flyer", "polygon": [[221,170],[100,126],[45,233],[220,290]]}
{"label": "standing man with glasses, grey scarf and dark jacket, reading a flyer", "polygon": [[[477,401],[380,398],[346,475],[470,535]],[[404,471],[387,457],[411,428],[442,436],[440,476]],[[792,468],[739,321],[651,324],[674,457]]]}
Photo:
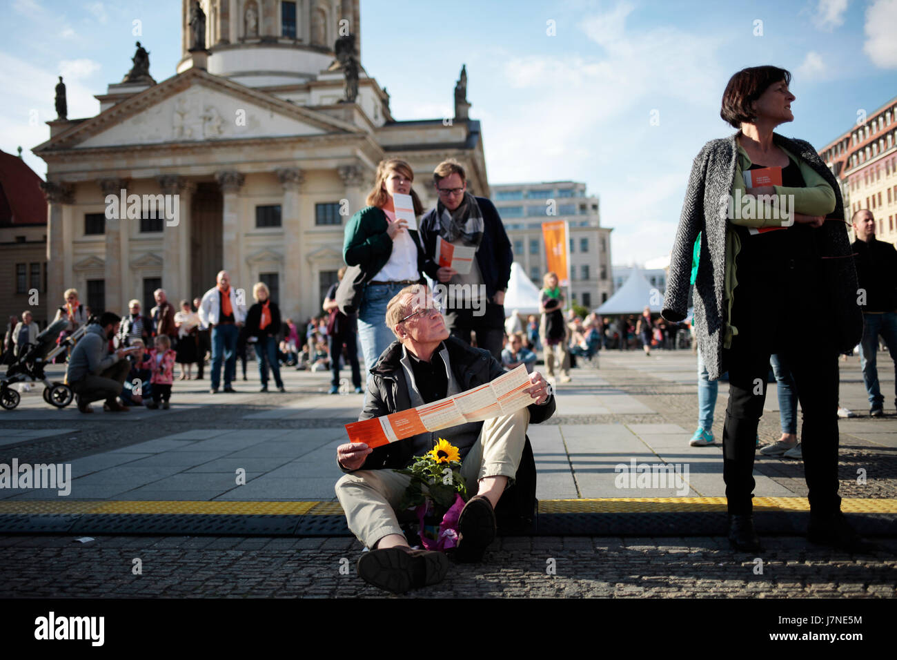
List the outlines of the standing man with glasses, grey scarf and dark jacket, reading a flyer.
{"label": "standing man with glasses, grey scarf and dark jacket, reading a flyer", "polygon": [[440,238],[476,249],[469,273],[461,275],[454,268],[437,272],[439,283],[450,287],[445,300],[446,325],[453,336],[467,344],[471,331],[475,332],[477,347],[485,348],[501,363],[504,295],[514,260],[508,234],[492,202],[467,192],[460,163],[440,163],[433,172],[433,182],[439,201],[420,222],[427,257],[436,259]]}

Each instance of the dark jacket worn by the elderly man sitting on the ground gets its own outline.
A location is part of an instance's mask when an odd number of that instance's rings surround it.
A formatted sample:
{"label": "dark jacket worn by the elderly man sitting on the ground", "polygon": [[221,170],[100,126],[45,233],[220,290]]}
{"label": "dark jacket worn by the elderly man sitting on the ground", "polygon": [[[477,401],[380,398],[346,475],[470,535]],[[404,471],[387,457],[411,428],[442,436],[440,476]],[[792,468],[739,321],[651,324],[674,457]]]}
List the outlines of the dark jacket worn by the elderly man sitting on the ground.
{"label": "dark jacket worn by the elderly man sitting on the ground", "polygon": [[[449,337],[443,343],[448,350],[449,365],[451,365],[455,380],[462,392],[489,383],[505,373],[501,364],[492,357],[489,351],[472,348],[455,337]],[[361,410],[359,420],[383,417],[399,410],[412,408],[405,369],[399,362],[403,356],[402,349],[402,344],[394,341],[370,370],[373,378],[368,385],[368,392],[364,398],[364,409]],[[554,395],[550,395],[543,405],[533,403],[528,408],[530,423],[538,424],[553,415]],[[437,431],[433,435],[438,436],[440,433],[445,435],[444,431]],[[404,468],[413,462],[414,441],[417,439],[419,442],[422,436],[431,436],[431,434],[412,436],[376,447],[368,454],[367,460],[359,470],[400,470]]]}

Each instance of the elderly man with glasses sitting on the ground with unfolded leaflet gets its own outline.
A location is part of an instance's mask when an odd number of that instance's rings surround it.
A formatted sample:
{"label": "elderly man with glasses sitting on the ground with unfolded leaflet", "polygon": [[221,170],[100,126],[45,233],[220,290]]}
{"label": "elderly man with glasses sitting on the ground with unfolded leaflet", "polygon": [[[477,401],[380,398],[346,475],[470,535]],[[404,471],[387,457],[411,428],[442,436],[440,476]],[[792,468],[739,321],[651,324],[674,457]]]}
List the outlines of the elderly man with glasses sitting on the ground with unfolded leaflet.
{"label": "elderly man with glasses sitting on the ground with unfolded leaflet", "polygon": [[[407,286],[399,292],[389,301],[386,322],[397,340],[370,370],[373,377],[360,419],[440,400],[504,373],[488,351],[449,336],[426,286]],[[459,449],[461,474],[470,491],[476,491],[458,519],[455,557],[458,561],[482,559],[483,550],[495,538],[494,508],[517,474],[527,425],[542,422],[554,412],[548,383],[538,372],[529,374],[529,379],[532,385],[526,392],[534,402],[510,415],[425,432],[373,449],[364,443],[337,448],[337,462],[348,474],[336,483],[336,497],[349,529],[370,548],[358,561],[358,573],[365,581],[398,594],[436,584],[446,576],[446,555],[412,550],[395,511],[409,478],[394,470],[430,451],[440,436]]]}

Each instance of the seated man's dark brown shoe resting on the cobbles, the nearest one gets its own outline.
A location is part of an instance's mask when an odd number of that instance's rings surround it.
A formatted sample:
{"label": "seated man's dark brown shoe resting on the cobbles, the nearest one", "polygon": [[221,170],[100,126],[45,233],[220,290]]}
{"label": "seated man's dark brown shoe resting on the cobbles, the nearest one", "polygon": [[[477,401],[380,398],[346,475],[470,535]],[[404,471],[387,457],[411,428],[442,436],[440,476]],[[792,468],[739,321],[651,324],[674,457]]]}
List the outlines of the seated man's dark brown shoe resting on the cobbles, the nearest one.
{"label": "seated man's dark brown shoe resting on the cobbles, the nearest one", "polygon": [[448,558],[435,550],[383,548],[370,550],[358,559],[358,575],[369,585],[393,594],[426,585],[436,585],[448,573]]}

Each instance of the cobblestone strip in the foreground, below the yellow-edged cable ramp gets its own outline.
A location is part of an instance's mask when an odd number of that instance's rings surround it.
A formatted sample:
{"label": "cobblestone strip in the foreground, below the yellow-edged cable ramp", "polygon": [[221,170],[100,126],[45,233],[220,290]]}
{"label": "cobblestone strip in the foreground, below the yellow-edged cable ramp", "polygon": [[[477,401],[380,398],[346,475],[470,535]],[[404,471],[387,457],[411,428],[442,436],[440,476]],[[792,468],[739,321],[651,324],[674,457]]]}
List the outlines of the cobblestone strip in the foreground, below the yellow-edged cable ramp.
{"label": "cobblestone strip in the foreground, below the yellow-edged cable ramp", "polygon": [[[453,564],[440,585],[408,594],[452,597],[893,598],[897,540],[857,558],[801,538],[765,539],[755,558],[727,540],[536,537],[496,541],[487,561]],[[235,537],[0,538],[0,597],[382,597],[355,573],[349,539]],[[133,573],[140,559],[141,575]],[[341,572],[342,569],[342,572]]]}

